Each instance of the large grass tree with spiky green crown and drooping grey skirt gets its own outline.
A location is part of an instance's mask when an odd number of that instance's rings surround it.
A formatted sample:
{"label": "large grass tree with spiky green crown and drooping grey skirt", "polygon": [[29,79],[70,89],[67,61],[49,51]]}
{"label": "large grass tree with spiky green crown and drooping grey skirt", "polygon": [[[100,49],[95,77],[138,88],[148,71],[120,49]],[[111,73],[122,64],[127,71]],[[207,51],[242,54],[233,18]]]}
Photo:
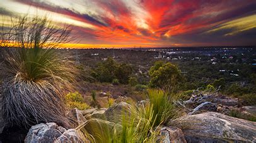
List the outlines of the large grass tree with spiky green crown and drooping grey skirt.
{"label": "large grass tree with spiky green crown and drooping grey skirt", "polygon": [[3,110],[11,124],[30,127],[39,122],[68,126],[64,94],[72,89],[74,66],[54,48],[70,40],[71,27],[55,26],[47,18],[13,22],[1,32],[6,48],[1,64]]}

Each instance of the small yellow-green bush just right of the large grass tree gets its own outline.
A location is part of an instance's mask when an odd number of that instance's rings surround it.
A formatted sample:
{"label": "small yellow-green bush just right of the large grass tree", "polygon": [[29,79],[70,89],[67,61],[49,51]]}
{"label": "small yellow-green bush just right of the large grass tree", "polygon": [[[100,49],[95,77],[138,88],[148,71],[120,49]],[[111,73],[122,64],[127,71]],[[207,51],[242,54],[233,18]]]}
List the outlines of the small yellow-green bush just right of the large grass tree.
{"label": "small yellow-green bush just right of the large grass tree", "polygon": [[78,92],[70,92],[65,97],[66,105],[69,109],[77,108],[79,110],[88,109],[89,105],[84,102],[84,98]]}

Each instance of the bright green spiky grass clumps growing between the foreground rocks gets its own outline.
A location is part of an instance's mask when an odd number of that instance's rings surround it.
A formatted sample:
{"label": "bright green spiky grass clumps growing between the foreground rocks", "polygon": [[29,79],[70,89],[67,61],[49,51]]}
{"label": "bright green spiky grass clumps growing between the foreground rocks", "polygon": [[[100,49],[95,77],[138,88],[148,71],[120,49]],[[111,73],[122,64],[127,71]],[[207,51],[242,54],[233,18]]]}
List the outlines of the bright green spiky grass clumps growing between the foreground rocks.
{"label": "bright green spiky grass clumps growing between the foreground rocks", "polygon": [[[156,142],[160,140],[158,127],[175,115],[172,102],[166,93],[149,90],[149,103],[132,105],[131,113],[122,116],[119,124],[93,122],[82,131],[91,136],[91,142]],[[100,120],[99,120],[100,121]],[[95,128],[97,127],[97,128]],[[90,135],[88,135],[90,134]]]}

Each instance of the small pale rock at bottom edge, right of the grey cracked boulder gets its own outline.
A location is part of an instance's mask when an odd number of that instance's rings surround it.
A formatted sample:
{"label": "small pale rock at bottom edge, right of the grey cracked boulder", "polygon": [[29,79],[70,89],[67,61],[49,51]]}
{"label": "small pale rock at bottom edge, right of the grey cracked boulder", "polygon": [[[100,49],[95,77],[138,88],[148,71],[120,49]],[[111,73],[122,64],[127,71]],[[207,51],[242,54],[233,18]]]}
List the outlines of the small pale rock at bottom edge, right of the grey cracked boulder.
{"label": "small pale rock at bottom edge, right of the grey cracked boulder", "polygon": [[57,138],[57,140],[54,141],[54,143],[64,143],[64,142],[78,142],[78,143],[85,143],[90,142],[90,140],[83,139],[77,130],[75,129],[69,129],[66,130],[60,137]]}

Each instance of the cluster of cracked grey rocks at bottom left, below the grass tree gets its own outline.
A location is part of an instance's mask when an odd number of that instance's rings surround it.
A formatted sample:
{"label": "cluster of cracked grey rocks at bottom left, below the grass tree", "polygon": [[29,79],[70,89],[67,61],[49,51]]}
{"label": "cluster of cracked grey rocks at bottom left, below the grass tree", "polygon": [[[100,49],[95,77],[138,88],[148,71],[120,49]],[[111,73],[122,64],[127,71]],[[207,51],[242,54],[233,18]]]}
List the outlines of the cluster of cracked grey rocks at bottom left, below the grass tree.
{"label": "cluster of cracked grey rocks at bottom left, below the grass tree", "polygon": [[83,142],[75,129],[66,130],[55,123],[33,125],[26,135],[25,142]]}

